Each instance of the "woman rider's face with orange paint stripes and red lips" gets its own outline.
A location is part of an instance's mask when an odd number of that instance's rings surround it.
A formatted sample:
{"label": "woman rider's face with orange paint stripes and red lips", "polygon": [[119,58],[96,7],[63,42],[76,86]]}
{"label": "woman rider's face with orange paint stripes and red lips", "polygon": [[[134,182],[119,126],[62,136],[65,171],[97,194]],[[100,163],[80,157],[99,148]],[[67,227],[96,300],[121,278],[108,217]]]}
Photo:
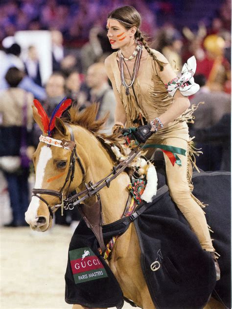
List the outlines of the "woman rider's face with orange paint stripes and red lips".
{"label": "woman rider's face with orange paint stripes and red lips", "polygon": [[131,42],[134,39],[132,28],[126,29],[118,21],[109,18],[107,20],[107,36],[109,38],[111,48],[119,49]]}

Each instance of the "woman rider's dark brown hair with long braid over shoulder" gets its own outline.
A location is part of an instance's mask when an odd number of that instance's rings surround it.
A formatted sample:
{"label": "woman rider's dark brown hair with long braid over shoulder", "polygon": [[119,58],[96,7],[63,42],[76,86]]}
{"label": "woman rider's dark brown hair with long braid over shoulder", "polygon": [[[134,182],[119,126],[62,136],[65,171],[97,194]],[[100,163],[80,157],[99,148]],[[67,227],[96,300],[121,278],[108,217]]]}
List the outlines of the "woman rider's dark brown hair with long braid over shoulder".
{"label": "woman rider's dark brown hair with long braid over shoulder", "polygon": [[157,59],[156,55],[148,46],[148,42],[145,40],[144,35],[139,30],[139,26],[141,25],[141,16],[139,12],[133,6],[122,6],[113,10],[107,17],[116,19],[122,26],[126,29],[130,29],[133,26],[137,27],[137,31],[135,33],[135,39],[139,40],[144,48],[147,50],[149,55],[157,62],[160,70],[163,70],[164,63]]}

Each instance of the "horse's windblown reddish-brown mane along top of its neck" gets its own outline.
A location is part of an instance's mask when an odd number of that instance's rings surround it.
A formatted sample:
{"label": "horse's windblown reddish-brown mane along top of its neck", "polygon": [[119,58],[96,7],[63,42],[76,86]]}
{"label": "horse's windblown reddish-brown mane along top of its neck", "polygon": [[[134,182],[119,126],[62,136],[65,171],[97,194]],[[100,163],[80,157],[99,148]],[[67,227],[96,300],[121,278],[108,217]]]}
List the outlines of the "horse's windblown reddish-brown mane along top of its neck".
{"label": "horse's windblown reddish-brown mane along top of its neck", "polygon": [[79,111],[78,106],[72,105],[68,111],[69,116],[63,120],[67,123],[78,125],[89,130],[98,140],[100,140],[102,144],[107,141],[107,144],[114,144],[120,149],[120,151],[122,151],[121,145],[125,141],[120,134],[106,134],[100,132],[105,128],[106,121],[109,117],[109,112],[103,118],[96,120],[98,108],[99,104],[93,103],[85,109]]}

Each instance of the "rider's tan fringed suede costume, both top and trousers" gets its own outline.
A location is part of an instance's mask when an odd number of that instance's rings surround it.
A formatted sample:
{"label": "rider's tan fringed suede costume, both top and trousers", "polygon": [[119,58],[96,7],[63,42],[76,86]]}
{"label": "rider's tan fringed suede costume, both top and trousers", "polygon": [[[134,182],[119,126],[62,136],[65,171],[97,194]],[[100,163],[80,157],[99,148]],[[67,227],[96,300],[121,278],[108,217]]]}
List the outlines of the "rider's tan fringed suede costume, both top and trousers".
{"label": "rider's tan fringed suede costume, both top and trousers", "polygon": [[[159,55],[158,52],[154,50],[153,52]],[[144,119],[145,122],[150,122],[162,115],[173,103],[173,97],[168,94],[159,76],[159,66],[149,54],[147,55],[142,71],[133,84],[136,97],[132,87],[129,88],[129,95],[127,96],[125,87],[121,84],[117,52],[113,52],[110,59],[112,72],[115,77],[116,90],[126,111],[126,127],[144,125],[146,124],[143,123]],[[192,166],[195,165],[194,154],[198,155],[198,153],[192,147],[192,141],[188,135],[187,122],[192,121],[192,113],[195,108],[187,109],[174,122],[169,123],[168,126],[153,134],[148,139],[147,144],[162,144],[186,150],[186,156],[180,155],[181,166],[177,164],[172,166],[168,157],[164,155],[170,195],[185,215],[192,231],[197,235],[202,248],[207,251],[214,251],[205,214],[202,209],[204,204],[192,194]],[[138,119],[140,119],[139,123]],[[135,120],[137,120],[136,123],[134,122]],[[148,152],[148,157],[153,152],[154,150],[151,149]]]}

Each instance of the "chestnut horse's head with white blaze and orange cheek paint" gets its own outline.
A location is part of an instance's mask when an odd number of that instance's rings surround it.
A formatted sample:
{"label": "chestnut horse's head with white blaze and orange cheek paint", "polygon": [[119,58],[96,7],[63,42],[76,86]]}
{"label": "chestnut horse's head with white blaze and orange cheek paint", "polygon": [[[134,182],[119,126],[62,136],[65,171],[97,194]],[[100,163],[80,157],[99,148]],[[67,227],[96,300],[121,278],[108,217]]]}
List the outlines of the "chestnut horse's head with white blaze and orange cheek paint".
{"label": "chestnut horse's head with white blaze and orange cheek paint", "polygon": [[[44,124],[34,106],[33,115],[43,131]],[[80,162],[75,167],[76,159],[75,142],[70,131],[61,119],[56,118],[52,138],[41,136],[33,155],[35,188],[25,213],[25,220],[32,230],[48,230],[52,225],[53,213],[62,206],[63,198],[83,181],[85,163],[79,158]],[[75,186],[71,181],[74,178]]]}

